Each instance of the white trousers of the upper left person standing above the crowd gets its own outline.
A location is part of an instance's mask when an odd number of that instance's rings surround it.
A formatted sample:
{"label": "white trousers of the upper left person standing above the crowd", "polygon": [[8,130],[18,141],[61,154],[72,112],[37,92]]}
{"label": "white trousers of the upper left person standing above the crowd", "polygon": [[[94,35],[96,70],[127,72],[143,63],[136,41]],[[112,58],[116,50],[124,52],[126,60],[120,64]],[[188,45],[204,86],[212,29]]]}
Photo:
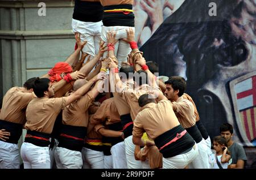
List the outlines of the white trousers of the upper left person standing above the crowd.
{"label": "white trousers of the upper left person standing above the crowd", "polygon": [[90,54],[93,57],[98,54],[101,42],[102,24],[102,21],[93,23],[72,19],[73,32],[79,32],[81,34],[81,42],[87,41],[84,48],[82,48],[82,52]]}

